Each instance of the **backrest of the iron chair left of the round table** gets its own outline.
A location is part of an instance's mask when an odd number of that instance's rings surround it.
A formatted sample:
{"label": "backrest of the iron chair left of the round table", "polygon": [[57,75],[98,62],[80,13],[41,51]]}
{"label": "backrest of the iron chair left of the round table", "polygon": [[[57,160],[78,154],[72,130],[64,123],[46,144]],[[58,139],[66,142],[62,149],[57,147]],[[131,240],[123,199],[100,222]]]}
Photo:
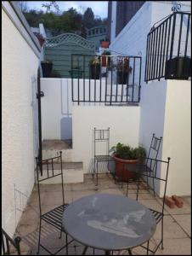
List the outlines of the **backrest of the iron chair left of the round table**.
{"label": "backrest of the iron chair left of the round table", "polygon": [[[62,151],[60,151],[59,156],[42,160],[41,162],[38,160],[38,158],[36,158],[36,160],[37,160],[37,189],[38,189],[38,199],[39,199],[39,210],[40,210],[40,216],[41,216],[42,201],[41,201],[40,184],[43,181],[60,176],[61,185],[62,185],[62,202],[63,204],[65,204]],[[41,175],[41,165],[42,165],[42,175]]]}

